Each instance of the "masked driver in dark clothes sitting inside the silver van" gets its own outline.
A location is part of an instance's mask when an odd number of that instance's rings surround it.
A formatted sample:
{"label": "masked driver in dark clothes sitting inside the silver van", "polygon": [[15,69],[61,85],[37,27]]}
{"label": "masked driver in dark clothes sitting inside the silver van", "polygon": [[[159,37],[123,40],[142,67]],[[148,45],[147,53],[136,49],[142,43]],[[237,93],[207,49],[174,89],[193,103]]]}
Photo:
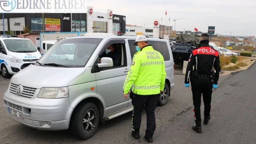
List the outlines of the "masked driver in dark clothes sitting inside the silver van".
{"label": "masked driver in dark clothes sitting inside the silver van", "polygon": [[[99,58],[102,58],[102,57],[112,58],[114,66],[121,65],[121,54],[118,53],[118,51],[115,49],[115,47],[113,45],[110,45],[106,49],[106,51],[101,56],[99,56]],[[101,63],[101,60],[99,61],[99,63]]]}

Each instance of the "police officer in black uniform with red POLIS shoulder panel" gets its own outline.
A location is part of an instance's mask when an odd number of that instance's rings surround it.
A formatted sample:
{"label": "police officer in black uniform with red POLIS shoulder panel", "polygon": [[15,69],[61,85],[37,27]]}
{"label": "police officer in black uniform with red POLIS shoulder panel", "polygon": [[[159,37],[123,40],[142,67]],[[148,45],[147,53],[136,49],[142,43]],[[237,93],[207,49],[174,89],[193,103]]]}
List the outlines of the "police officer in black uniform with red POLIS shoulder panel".
{"label": "police officer in black uniform with red POLIS shoulder panel", "polygon": [[[194,66],[194,70],[193,70]],[[214,69],[215,71],[214,71]],[[209,46],[209,35],[202,34],[200,47],[193,49],[188,60],[184,86],[189,87],[189,79],[193,94],[193,112],[196,125],[193,130],[201,133],[201,95],[204,100],[204,124],[210,120],[210,109],[212,101],[212,88],[218,87],[218,79],[221,71],[219,53]]]}

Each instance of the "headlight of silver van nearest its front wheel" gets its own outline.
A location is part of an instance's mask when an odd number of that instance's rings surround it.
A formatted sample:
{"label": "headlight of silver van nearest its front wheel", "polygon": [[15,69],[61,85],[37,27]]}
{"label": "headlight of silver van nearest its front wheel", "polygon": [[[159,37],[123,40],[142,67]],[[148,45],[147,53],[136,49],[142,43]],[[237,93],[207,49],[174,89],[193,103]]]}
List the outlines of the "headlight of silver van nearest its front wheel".
{"label": "headlight of silver van nearest its front wheel", "polygon": [[41,88],[38,98],[59,99],[68,97],[68,87],[45,87]]}

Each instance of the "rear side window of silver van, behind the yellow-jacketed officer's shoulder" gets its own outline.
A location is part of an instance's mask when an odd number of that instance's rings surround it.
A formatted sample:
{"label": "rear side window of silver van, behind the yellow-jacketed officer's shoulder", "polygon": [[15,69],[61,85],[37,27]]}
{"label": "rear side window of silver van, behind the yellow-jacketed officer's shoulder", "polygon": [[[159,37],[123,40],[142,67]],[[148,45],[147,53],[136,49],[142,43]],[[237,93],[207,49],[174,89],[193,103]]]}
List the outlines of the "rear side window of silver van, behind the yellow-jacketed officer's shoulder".
{"label": "rear side window of silver van, behind the yellow-jacketed officer's shoulder", "polygon": [[153,48],[163,55],[165,61],[170,61],[170,53],[166,42],[148,41],[152,44]]}

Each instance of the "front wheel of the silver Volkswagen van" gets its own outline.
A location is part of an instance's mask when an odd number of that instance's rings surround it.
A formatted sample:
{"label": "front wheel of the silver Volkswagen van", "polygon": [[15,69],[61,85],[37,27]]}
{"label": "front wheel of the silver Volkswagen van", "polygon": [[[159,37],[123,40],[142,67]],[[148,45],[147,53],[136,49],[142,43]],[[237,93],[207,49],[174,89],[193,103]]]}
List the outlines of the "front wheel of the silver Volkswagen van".
{"label": "front wheel of the silver Volkswagen van", "polygon": [[97,131],[98,125],[99,110],[92,102],[81,104],[72,114],[70,128],[74,136],[89,139]]}

